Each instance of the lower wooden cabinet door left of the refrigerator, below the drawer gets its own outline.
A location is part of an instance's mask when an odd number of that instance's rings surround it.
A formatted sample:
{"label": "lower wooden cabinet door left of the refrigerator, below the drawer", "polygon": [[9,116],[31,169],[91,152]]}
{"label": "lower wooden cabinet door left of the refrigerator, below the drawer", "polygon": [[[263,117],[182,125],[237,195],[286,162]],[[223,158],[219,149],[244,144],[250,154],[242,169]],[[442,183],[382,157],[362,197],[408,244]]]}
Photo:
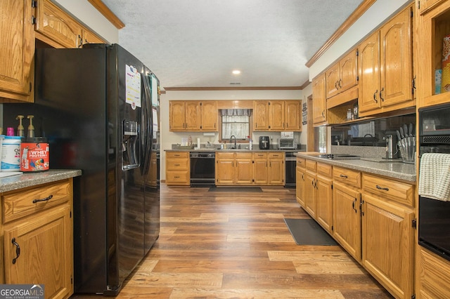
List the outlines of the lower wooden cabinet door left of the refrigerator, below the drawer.
{"label": "lower wooden cabinet door left of the refrigerator, below the drawer", "polygon": [[73,292],[72,240],[68,204],[5,225],[6,284],[44,284],[45,298],[67,298]]}

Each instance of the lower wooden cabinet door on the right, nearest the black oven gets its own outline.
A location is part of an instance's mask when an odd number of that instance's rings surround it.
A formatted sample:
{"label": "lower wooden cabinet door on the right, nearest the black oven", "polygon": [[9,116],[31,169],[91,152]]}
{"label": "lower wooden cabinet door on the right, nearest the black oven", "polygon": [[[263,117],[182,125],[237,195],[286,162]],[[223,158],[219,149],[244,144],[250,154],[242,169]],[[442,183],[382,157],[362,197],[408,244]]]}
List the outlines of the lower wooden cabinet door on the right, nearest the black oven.
{"label": "lower wooden cabinet door on the right, nearest the black oven", "polygon": [[412,209],[363,194],[362,261],[366,270],[397,298],[414,293]]}

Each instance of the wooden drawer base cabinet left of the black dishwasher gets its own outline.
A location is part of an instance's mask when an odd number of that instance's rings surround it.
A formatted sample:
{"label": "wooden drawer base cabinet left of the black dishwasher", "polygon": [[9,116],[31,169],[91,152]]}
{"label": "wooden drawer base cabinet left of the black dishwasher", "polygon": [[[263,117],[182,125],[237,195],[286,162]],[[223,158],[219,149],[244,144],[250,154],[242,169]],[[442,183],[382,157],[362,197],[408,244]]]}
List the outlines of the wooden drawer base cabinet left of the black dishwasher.
{"label": "wooden drawer base cabinet left of the black dishwasher", "polygon": [[166,152],[166,185],[191,185],[189,152]]}

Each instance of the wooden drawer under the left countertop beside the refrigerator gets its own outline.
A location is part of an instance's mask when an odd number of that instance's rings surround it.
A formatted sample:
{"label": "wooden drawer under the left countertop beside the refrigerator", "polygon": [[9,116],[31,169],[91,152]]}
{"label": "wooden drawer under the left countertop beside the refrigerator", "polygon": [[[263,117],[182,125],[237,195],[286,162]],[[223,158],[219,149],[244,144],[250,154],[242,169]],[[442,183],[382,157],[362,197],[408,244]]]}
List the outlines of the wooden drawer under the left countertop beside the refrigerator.
{"label": "wooden drawer under the left countertop beside the refrigerator", "polygon": [[22,218],[69,201],[72,198],[71,182],[71,180],[60,180],[2,194],[3,222]]}

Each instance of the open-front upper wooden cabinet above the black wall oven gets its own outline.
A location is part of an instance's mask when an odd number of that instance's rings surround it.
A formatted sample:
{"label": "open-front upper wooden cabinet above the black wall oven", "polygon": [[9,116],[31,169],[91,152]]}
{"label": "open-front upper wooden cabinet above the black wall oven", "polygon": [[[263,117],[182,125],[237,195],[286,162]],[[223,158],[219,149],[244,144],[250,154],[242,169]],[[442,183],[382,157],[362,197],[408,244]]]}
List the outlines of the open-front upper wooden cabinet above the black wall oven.
{"label": "open-front upper wooden cabinet above the black wall oven", "polygon": [[[445,51],[444,37],[450,34],[450,1],[421,0],[417,2],[421,13],[418,18],[417,42],[418,57],[420,57],[420,77],[418,76],[417,84],[418,107],[423,107],[449,102],[450,93],[444,92],[445,89],[436,84],[435,74],[442,72],[441,85],[449,84],[446,78],[450,77],[450,66],[444,67],[442,58]],[[445,75],[446,72],[449,75]]]}

